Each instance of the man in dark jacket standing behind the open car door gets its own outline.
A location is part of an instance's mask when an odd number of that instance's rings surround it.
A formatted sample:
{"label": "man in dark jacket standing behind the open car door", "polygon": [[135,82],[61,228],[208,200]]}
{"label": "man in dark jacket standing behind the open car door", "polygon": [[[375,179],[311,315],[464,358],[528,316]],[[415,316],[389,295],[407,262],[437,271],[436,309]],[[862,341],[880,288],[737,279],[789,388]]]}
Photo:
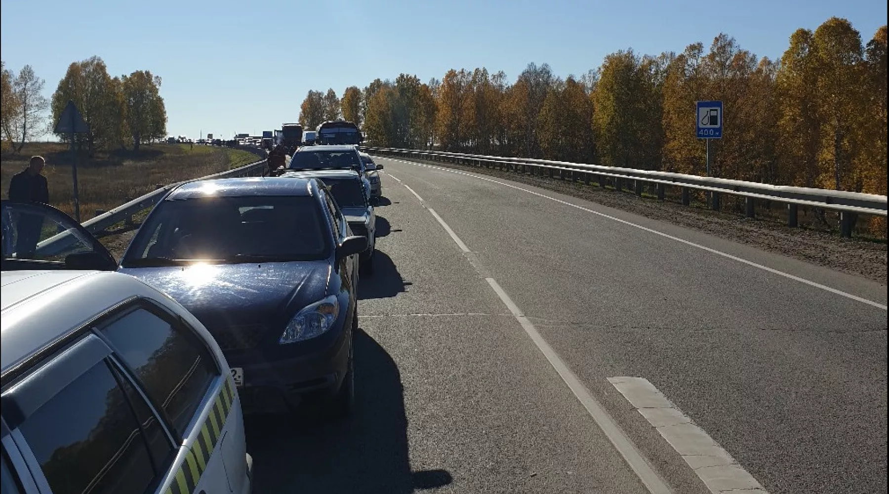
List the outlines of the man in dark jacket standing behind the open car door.
{"label": "man in dark jacket standing behind the open car door", "polygon": [[[32,203],[50,202],[50,189],[46,177],[40,174],[46,160],[43,156],[31,156],[28,168],[12,176],[9,182],[9,199]],[[22,214],[16,222],[16,257],[28,259],[34,256],[44,217],[39,214]]]}

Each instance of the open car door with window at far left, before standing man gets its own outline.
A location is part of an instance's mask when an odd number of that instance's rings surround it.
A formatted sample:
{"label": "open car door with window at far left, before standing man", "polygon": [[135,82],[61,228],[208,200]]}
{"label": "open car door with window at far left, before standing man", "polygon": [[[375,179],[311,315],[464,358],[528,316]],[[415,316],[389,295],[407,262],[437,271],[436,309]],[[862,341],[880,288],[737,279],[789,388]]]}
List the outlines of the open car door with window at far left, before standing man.
{"label": "open car door with window at far left, before standing man", "polygon": [[2,270],[114,271],[117,262],[75,219],[43,203],[0,201]]}

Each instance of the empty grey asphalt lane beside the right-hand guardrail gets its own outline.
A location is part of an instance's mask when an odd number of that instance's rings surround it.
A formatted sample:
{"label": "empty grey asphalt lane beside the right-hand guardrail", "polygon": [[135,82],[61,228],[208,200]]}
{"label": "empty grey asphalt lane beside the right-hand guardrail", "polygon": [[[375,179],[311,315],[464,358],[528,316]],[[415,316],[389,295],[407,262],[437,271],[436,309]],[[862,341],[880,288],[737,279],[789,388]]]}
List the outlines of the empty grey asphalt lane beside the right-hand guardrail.
{"label": "empty grey asphalt lane beside the right-hand guardrail", "polygon": [[885,285],[524,184],[380,163],[453,229],[677,492],[677,453],[608,378],[650,380],[770,492],[885,492]]}

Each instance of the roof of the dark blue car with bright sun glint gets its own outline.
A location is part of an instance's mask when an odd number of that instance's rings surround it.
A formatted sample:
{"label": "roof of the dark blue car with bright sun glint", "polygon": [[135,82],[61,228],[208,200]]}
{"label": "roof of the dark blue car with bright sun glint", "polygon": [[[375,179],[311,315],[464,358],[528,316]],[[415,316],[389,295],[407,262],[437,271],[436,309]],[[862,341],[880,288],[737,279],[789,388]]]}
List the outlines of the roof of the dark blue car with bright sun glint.
{"label": "roof of the dark blue car with bright sun glint", "polygon": [[238,179],[196,180],[176,187],[167,201],[194,199],[215,195],[243,197],[245,195],[313,195],[309,179],[281,179],[279,177],[246,177]]}

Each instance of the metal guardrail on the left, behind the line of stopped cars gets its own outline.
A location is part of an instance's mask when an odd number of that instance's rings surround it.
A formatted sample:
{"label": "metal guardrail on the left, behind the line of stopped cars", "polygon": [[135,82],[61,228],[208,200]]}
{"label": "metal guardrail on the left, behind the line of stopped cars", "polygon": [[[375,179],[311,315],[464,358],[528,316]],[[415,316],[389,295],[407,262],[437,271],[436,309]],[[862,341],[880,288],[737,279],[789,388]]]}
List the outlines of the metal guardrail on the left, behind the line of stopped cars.
{"label": "metal guardrail on the left, behind the line of stopped cars", "polygon": [[[141,195],[140,197],[133,199],[129,203],[117,206],[111,211],[104,212],[96,216],[95,218],[87,219],[81,225],[86,228],[86,230],[89,231],[91,234],[96,234],[108,227],[111,227],[112,225],[120,223],[121,221],[130,221],[132,219],[132,215],[139,211],[154,207],[156,203],[160,202],[160,200],[164,198],[164,195],[172,190],[173,187],[177,187],[181,184],[193,182],[196,180],[228,179],[234,177],[259,177],[263,174],[264,171],[267,170],[268,165],[266,163],[266,160],[263,159],[232,170],[220,171],[219,173],[213,173],[212,175],[207,175],[206,177],[183,180],[174,184],[170,184],[168,186],[160,187],[152,192],[149,192],[146,195]],[[78,239],[75,235],[72,235],[71,232],[62,232],[59,235],[54,235],[44,240],[43,242],[38,243],[37,250],[40,252],[41,255],[52,256],[60,251],[64,251],[72,243],[76,242],[78,242]]]}

